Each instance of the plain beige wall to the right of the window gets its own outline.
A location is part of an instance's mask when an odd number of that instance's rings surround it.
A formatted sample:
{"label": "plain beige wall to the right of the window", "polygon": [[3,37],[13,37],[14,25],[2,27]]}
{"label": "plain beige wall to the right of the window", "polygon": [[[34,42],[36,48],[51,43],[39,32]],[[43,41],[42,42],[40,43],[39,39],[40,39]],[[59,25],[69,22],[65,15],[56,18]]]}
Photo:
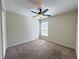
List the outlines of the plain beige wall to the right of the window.
{"label": "plain beige wall to the right of the window", "polygon": [[77,11],[48,18],[48,41],[76,48]]}

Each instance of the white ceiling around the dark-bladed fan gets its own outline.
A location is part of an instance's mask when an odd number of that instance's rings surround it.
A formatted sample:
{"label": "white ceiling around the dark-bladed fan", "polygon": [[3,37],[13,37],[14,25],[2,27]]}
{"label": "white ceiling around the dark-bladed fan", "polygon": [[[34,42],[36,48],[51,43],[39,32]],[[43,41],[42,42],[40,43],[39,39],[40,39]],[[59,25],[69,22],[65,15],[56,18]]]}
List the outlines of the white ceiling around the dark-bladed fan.
{"label": "white ceiling around the dark-bladed fan", "polygon": [[49,8],[48,14],[52,16],[77,9],[77,0],[5,0],[6,10],[18,14],[35,15],[30,10],[38,11],[37,7]]}

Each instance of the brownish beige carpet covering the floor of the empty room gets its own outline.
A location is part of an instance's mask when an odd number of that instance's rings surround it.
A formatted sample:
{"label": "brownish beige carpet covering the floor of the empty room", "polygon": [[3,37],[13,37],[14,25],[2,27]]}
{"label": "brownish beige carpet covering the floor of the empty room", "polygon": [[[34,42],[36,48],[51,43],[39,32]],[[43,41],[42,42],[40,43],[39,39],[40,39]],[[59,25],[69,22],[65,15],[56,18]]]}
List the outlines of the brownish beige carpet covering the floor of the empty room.
{"label": "brownish beige carpet covering the floor of the empty room", "polygon": [[34,40],[7,49],[5,59],[77,59],[74,49]]}

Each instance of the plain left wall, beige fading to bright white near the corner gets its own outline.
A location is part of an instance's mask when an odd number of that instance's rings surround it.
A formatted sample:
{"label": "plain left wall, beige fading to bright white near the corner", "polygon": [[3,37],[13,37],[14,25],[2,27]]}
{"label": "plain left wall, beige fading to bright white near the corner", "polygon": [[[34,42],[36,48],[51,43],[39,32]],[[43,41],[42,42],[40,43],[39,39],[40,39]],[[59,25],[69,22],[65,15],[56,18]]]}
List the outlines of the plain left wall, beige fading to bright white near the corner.
{"label": "plain left wall, beige fading to bright white near the corner", "polygon": [[39,21],[12,12],[6,12],[8,47],[39,38]]}

